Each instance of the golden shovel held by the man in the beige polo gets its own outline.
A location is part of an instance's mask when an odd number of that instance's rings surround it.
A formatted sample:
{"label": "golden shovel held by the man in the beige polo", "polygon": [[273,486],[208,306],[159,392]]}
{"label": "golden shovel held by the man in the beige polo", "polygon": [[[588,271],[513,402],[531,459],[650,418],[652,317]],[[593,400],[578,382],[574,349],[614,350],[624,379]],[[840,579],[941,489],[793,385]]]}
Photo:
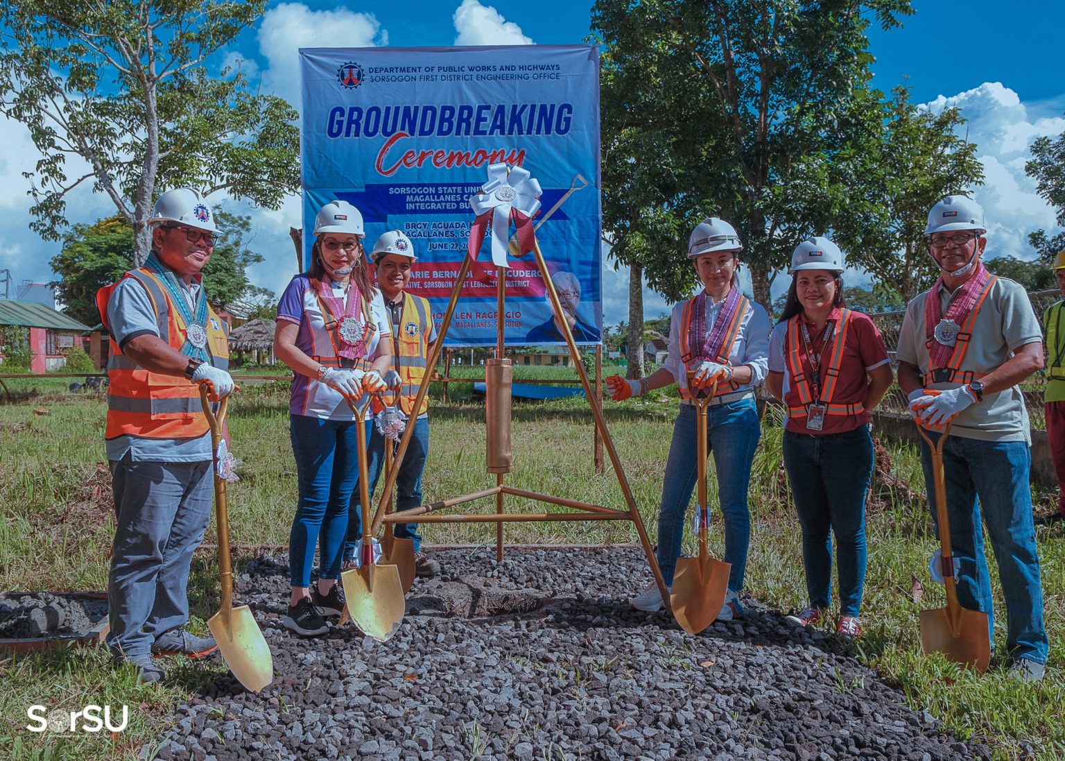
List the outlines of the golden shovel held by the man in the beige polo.
{"label": "golden shovel held by the man in the beige polo", "polygon": [[921,650],[928,655],[941,652],[948,661],[972,666],[979,674],[987,670],[992,661],[987,614],[970,611],[957,602],[954,582],[954,561],[950,546],[950,521],[947,518],[947,476],[943,469],[943,444],[950,433],[944,428],[939,440],[932,443],[920,423],[917,432],[932,454],[932,477],[935,481],[936,523],[939,527],[939,553],[943,556],[943,585],[947,590],[947,606],[921,611]]}

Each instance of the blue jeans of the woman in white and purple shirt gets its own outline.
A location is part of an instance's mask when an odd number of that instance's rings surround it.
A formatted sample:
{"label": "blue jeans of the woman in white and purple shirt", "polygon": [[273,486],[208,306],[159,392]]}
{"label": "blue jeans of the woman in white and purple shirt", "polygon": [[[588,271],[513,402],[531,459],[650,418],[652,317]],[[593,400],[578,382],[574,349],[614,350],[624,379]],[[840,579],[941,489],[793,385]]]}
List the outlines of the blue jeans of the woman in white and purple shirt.
{"label": "blue jeans of the woman in white and purple shirt", "polygon": [[371,422],[289,416],[292,452],[296,457],[299,504],[289,534],[289,573],[293,586],[310,586],[314,546],[318,576],[339,579],[341,548],[347,533],[347,504],[359,483],[359,439],[356,425]]}

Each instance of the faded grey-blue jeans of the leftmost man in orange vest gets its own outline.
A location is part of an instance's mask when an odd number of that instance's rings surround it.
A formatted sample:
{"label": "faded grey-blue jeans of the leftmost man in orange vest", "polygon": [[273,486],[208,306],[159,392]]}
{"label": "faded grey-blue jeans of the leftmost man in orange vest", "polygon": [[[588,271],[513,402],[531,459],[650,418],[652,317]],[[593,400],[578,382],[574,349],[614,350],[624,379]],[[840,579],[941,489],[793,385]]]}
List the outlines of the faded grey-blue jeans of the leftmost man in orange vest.
{"label": "faded grey-blue jeans of the leftmost man in orange vest", "polygon": [[147,655],[189,620],[189,567],[211,521],[211,463],[111,462],[115,539],[108,577],[108,645]]}

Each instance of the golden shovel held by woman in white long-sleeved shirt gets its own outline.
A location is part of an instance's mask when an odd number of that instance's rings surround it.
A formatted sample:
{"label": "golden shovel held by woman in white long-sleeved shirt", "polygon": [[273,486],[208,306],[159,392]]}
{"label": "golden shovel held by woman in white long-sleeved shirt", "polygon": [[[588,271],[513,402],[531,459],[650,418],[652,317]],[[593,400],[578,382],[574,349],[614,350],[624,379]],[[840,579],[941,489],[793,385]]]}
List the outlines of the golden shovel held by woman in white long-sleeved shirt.
{"label": "golden shovel held by woman in white long-sleeved shirt", "polygon": [[[688,373],[689,388],[694,373]],[[698,462],[698,504],[699,518],[699,556],[679,557],[676,562],[676,572],[673,576],[673,589],[670,593],[670,608],[673,617],[681,628],[690,634],[710,626],[721,612],[728,594],[728,571],[732,564],[709,556],[706,549],[706,524],[708,511],[706,505],[706,459],[709,456],[707,443],[707,409],[718,390],[717,379],[710,385],[709,393],[703,395],[692,391],[691,399],[698,411],[699,434],[695,437],[695,458]]]}

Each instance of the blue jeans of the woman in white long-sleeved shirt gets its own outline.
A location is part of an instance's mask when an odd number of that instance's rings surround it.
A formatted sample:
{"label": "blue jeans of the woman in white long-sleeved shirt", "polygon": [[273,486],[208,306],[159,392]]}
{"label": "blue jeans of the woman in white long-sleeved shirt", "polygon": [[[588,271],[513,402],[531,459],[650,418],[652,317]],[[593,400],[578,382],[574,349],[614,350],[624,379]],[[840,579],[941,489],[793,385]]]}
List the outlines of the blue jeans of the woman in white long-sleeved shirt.
{"label": "blue jeans of the woman in white long-sleeved shirt", "polygon": [[[658,515],[658,565],[667,585],[673,583],[676,558],[681,556],[685,516],[698,477],[695,450],[698,414],[690,404],[681,405],[673,424],[673,441],[666,462],[662,500]],[[732,564],[728,588],[743,588],[751,518],[747,490],[751,463],[761,428],[754,399],[714,405],[707,409],[707,446],[718,473],[718,502],[725,523],[725,562]],[[707,502],[712,498],[707,493]]]}

